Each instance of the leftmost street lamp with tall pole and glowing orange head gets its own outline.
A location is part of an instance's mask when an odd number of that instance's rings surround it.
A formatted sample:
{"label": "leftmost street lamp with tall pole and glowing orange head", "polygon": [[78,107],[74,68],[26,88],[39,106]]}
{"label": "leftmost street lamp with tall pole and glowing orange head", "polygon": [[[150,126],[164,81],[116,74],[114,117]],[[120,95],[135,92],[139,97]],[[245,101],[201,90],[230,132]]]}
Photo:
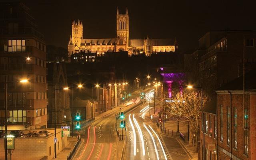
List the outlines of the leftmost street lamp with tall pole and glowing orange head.
{"label": "leftmost street lamp with tall pole and glowing orange head", "polygon": [[[8,160],[8,153],[7,153],[7,83],[9,82],[19,82],[19,81],[7,81],[7,76],[5,76],[5,81],[4,81],[4,89],[5,89],[5,138],[4,138],[4,143],[5,143],[5,160]],[[27,79],[22,79],[20,80],[20,83],[27,83]]]}

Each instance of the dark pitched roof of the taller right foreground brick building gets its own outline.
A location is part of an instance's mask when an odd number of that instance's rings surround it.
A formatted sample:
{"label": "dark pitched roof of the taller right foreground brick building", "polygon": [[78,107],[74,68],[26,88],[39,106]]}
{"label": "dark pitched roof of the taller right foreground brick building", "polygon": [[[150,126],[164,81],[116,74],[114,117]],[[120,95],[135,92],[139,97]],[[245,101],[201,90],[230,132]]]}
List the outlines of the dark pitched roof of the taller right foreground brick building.
{"label": "dark pitched roof of the taller right foreground brick building", "polygon": [[[245,75],[245,89],[256,89],[256,70],[251,70]],[[226,85],[218,88],[216,91],[225,91],[225,90],[243,90],[243,76],[238,77]]]}

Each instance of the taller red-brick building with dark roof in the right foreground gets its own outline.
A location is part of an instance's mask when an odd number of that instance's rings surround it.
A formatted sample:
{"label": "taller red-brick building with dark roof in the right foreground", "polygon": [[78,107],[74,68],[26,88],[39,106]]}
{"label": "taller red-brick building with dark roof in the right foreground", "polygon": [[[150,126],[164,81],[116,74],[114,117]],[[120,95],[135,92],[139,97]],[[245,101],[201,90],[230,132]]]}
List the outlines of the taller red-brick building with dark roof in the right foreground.
{"label": "taller red-brick building with dark roof in the right foreground", "polygon": [[[256,159],[256,71],[216,91],[218,160]],[[243,100],[244,99],[244,100]]]}

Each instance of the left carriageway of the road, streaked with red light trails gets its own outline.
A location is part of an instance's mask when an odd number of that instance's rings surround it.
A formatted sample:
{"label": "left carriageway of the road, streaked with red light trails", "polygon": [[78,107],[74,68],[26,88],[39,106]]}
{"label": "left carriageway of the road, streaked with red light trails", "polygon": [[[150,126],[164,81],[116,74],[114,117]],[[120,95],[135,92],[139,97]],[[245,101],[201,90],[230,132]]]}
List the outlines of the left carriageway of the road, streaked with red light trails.
{"label": "left carriageway of the road, streaked with red light trails", "polygon": [[[139,93],[134,93],[134,97]],[[122,111],[138,103],[139,99],[132,99],[122,105]],[[117,112],[119,111],[116,110]],[[74,160],[116,160],[117,146],[119,142],[116,134],[116,112],[113,111],[98,120],[95,120],[87,128],[81,129],[80,134],[84,142],[81,144]],[[83,131],[84,130],[84,131]],[[84,134],[83,134],[84,133]],[[122,147],[122,146],[119,146]]]}

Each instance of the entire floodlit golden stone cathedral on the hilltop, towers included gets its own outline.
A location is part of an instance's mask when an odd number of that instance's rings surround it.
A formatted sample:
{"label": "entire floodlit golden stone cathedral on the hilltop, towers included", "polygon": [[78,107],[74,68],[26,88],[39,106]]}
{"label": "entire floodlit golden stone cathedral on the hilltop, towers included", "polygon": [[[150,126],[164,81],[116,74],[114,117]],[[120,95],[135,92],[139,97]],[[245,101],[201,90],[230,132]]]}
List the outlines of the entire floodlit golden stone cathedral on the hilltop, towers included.
{"label": "entire floodlit golden stone cathedral on the hilltop, towers included", "polygon": [[129,38],[129,14],[116,13],[116,38],[84,39],[83,24],[80,20],[72,22],[72,32],[68,43],[68,55],[80,51],[97,53],[128,51],[131,54],[145,53],[150,56],[154,52],[174,52],[178,43],[174,39],[134,39]]}

